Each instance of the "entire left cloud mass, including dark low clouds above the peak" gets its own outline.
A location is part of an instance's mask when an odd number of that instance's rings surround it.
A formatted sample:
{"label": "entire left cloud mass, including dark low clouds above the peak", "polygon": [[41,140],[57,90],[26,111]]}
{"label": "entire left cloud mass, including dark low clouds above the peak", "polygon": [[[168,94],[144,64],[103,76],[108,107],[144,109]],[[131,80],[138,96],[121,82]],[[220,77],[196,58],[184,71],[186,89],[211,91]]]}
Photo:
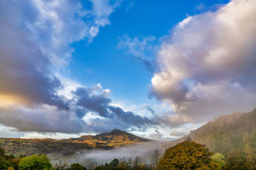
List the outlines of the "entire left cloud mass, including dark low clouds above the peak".
{"label": "entire left cloud mass, including dark low clouds above the peak", "polygon": [[0,2],[0,124],[17,131],[65,133],[157,124],[111,106],[110,90],[100,83],[83,87],[57,74],[72,57],[70,44],[92,42],[121,1],[89,3]]}

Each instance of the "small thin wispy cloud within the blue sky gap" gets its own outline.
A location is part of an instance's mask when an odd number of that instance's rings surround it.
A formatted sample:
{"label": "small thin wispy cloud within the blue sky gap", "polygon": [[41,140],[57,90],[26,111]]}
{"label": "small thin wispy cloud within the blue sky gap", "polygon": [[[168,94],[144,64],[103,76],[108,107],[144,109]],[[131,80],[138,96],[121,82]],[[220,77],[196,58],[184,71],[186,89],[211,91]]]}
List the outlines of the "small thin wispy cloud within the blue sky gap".
{"label": "small thin wispy cloud within the blue sky gap", "polygon": [[157,69],[157,65],[154,59],[152,59],[152,52],[156,50],[156,46],[153,45],[156,41],[156,37],[148,36],[139,38],[131,38],[126,34],[118,38],[117,48],[127,50],[135,59],[139,60],[148,71],[154,72]]}

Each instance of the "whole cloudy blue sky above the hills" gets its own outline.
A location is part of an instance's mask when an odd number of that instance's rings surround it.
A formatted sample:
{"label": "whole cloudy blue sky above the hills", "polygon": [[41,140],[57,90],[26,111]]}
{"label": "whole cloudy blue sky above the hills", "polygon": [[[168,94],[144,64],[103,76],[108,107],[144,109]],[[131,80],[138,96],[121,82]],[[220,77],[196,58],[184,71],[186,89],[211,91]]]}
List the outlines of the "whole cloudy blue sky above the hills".
{"label": "whole cloudy blue sky above the hills", "polygon": [[256,107],[256,1],[0,2],[0,137],[175,139]]}

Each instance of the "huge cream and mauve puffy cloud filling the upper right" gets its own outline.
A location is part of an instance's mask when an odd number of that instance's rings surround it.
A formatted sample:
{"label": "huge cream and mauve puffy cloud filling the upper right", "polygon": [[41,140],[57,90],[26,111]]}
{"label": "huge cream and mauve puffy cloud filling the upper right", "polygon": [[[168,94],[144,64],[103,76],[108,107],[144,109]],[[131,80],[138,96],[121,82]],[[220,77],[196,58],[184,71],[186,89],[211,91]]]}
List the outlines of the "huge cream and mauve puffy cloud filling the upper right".
{"label": "huge cream and mauve puffy cloud filling the upper right", "polygon": [[[152,94],[177,115],[170,122],[205,122],[256,106],[256,1],[234,0],[189,16],[158,53]],[[181,122],[180,122],[181,121]]]}

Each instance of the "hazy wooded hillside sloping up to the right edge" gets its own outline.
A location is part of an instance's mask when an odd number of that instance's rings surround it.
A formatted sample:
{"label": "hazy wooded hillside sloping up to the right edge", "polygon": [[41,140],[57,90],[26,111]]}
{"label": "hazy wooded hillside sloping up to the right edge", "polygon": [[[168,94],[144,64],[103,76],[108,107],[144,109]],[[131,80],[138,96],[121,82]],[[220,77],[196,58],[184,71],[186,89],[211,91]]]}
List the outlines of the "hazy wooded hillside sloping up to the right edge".
{"label": "hazy wooded hillside sloping up to the right edge", "polygon": [[244,150],[248,143],[256,145],[256,109],[248,113],[233,113],[216,118],[195,131],[175,141],[164,143],[165,147],[184,141],[188,136],[207,146],[212,152],[224,155],[234,148]]}

